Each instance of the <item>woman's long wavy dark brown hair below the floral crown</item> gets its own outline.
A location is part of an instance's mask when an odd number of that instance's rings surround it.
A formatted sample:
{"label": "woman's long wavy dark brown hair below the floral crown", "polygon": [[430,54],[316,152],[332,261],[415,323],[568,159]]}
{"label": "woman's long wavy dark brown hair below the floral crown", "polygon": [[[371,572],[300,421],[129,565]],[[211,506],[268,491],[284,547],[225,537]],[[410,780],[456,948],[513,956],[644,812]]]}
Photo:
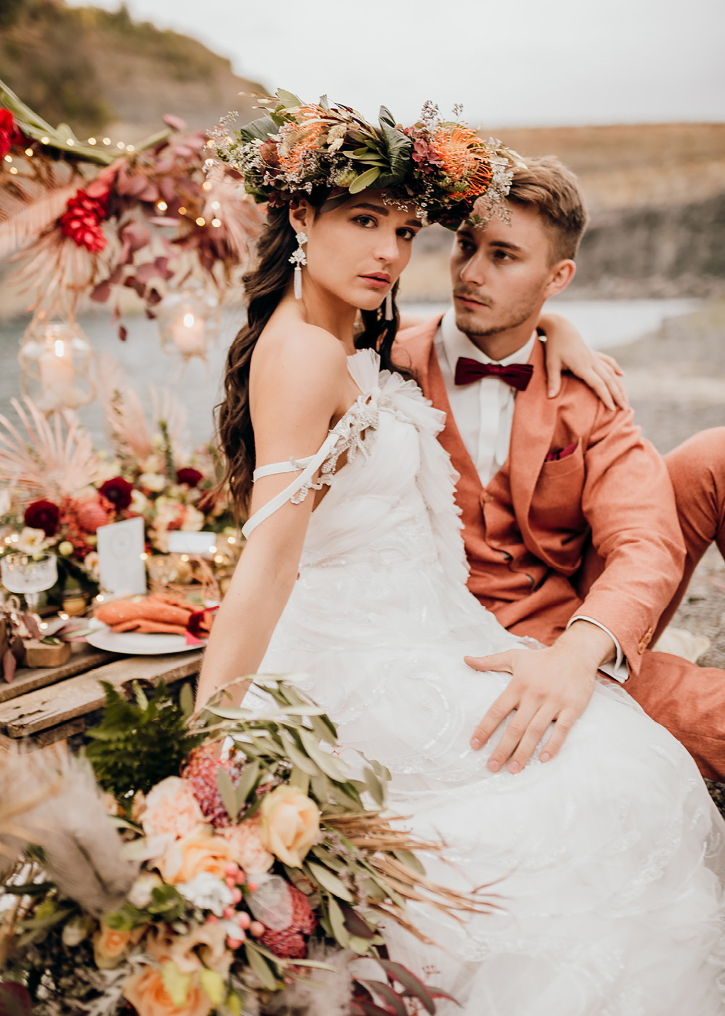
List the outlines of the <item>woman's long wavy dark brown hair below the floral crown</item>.
{"label": "woman's long wavy dark brown hair below the floral crown", "polygon": [[[311,201],[319,210],[324,198]],[[296,249],[294,230],[289,225],[287,207],[270,208],[267,221],[257,243],[257,262],[244,276],[247,295],[247,322],[237,333],[226,355],[224,398],[216,406],[218,442],[224,457],[224,474],[218,489],[228,484],[235,513],[243,516],[252,490],[255,465],[254,431],[249,410],[249,371],[254,347],[259,336],[284,296],[293,269],[289,258]],[[393,287],[393,298],[398,283]],[[385,320],[384,308],[360,311],[361,328],[355,337],[358,350],[376,350],[381,367],[396,370],[391,357],[399,324],[398,309],[393,299],[393,320]]]}

